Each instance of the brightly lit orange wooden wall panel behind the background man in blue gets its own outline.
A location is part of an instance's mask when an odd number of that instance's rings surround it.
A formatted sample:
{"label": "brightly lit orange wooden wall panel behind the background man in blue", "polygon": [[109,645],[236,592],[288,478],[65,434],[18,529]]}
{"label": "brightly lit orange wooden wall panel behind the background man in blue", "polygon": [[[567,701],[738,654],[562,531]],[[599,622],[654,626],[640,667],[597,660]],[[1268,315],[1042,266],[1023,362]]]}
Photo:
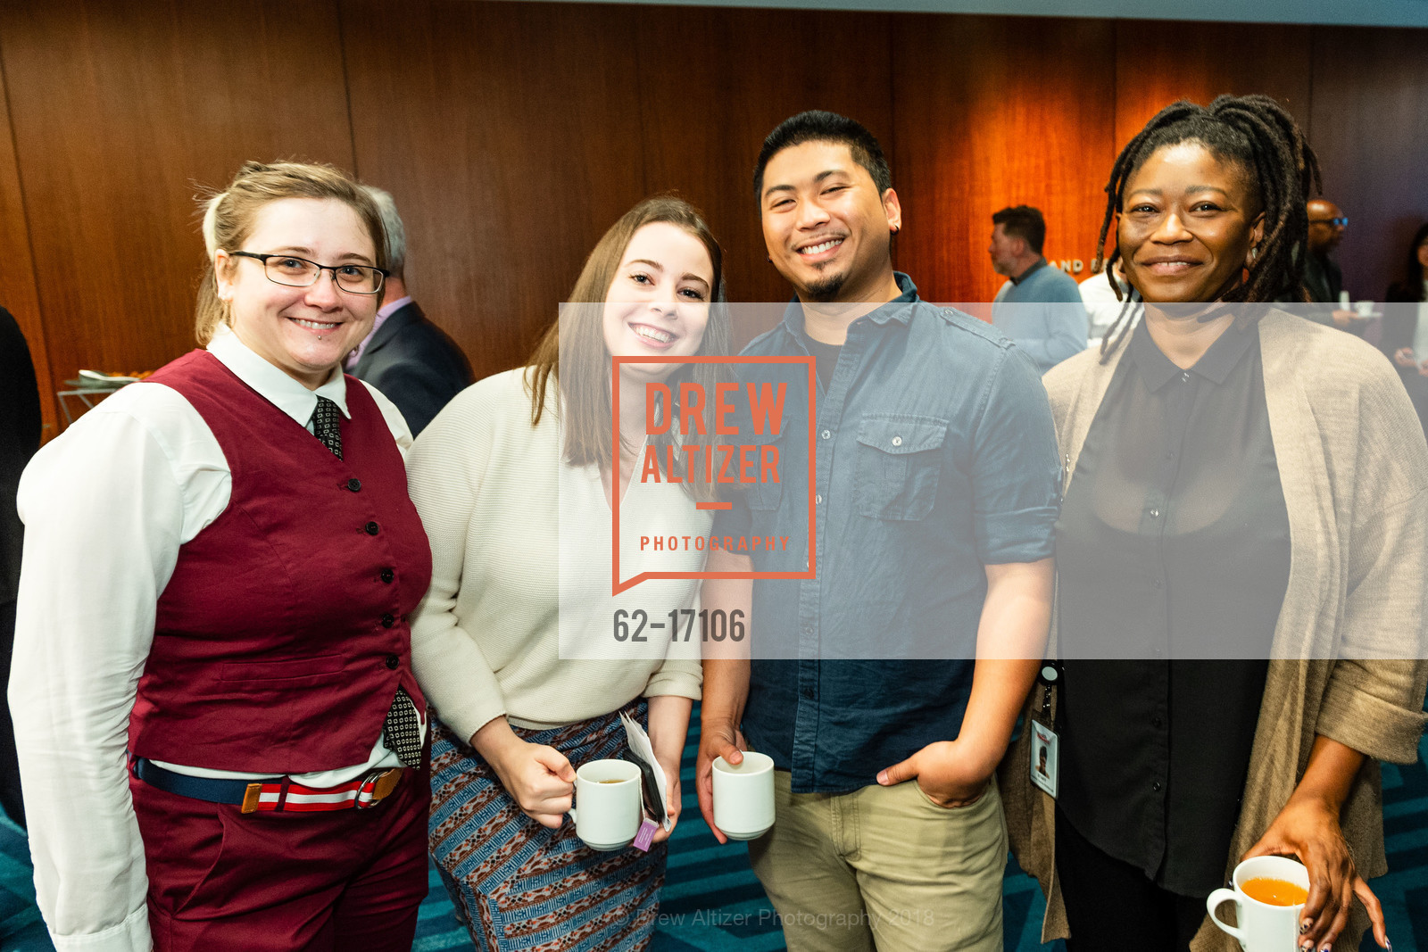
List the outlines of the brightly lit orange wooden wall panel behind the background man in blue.
{"label": "brightly lit orange wooden wall panel behind the background man in blue", "polygon": [[1041,208],[1050,258],[1090,267],[1112,158],[1111,23],[900,16],[892,30],[898,267],[928,300],[990,301],[1005,280],[991,214],[1015,204]]}

